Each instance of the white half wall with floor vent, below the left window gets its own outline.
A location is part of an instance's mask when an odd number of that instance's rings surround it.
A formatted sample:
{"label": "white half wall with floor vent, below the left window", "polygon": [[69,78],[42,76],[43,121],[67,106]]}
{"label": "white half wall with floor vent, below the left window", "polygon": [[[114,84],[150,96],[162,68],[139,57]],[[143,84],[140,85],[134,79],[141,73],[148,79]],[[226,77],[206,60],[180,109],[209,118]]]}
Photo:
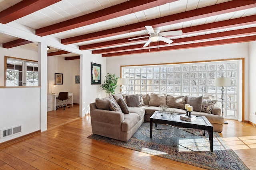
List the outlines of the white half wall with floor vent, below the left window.
{"label": "white half wall with floor vent, below the left window", "polygon": [[0,96],[0,129],[23,127],[22,133],[0,139],[0,143],[40,130],[39,87],[0,88]]}

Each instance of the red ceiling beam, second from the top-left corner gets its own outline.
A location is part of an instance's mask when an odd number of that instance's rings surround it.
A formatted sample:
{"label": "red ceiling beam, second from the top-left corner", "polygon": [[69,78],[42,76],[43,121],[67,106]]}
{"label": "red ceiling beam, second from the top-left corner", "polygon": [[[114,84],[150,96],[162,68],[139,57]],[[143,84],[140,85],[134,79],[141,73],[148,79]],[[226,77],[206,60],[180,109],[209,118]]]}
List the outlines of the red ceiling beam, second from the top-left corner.
{"label": "red ceiling beam, second from the top-left corner", "polygon": [[45,36],[70,29],[83,27],[98,23],[101,21],[110,20],[120,16],[132,14],[134,12],[143,11],[156,6],[164,5],[177,0],[130,0],[103,10],[92,12],[84,16],[76,17],[71,20],[63,21],[47,27],[36,29],[36,35]]}

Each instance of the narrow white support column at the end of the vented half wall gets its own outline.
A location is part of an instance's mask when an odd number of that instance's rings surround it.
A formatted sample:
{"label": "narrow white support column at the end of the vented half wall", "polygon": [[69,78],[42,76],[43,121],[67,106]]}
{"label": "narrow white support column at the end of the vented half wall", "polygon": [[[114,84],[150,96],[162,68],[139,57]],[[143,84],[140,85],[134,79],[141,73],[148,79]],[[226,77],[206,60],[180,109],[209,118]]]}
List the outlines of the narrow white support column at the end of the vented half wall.
{"label": "narrow white support column at the end of the vented half wall", "polygon": [[47,130],[47,45],[38,43],[38,86],[41,86],[41,131]]}

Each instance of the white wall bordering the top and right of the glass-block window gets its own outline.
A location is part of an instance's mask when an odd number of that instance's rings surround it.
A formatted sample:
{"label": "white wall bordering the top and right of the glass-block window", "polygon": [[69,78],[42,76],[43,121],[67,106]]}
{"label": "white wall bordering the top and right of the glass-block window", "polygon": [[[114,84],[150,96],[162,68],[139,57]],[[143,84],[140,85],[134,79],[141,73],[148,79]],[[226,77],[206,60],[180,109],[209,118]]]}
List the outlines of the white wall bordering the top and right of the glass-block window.
{"label": "white wall bordering the top and right of the glass-block window", "polygon": [[[176,63],[190,61],[206,61],[216,59],[245,58],[245,87],[248,87],[249,67],[249,43],[236,43],[228,45],[216,45],[137,55],[124,55],[120,57],[107,57],[106,72],[120,77],[120,66],[138,64]],[[116,88],[116,92],[118,92]],[[245,88],[245,120],[249,120],[249,96],[248,88]],[[256,95],[256,94],[255,94]],[[255,96],[254,95],[254,96]],[[241,107],[240,107],[241,109]],[[240,114],[242,115],[242,114]]]}

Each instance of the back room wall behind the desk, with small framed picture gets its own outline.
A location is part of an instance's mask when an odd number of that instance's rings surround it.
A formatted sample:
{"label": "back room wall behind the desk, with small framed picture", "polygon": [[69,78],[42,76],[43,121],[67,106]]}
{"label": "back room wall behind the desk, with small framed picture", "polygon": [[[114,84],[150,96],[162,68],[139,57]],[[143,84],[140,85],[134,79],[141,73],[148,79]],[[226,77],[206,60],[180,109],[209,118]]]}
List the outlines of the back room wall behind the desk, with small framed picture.
{"label": "back room wall behind the desk, with small framed picture", "polygon": [[[79,75],[80,60],[68,60],[64,57],[50,56],[48,57],[48,94],[59,92],[73,92],[73,103],[79,104],[79,84],[75,84],[75,76]],[[63,74],[63,84],[54,84],[54,73]]]}

